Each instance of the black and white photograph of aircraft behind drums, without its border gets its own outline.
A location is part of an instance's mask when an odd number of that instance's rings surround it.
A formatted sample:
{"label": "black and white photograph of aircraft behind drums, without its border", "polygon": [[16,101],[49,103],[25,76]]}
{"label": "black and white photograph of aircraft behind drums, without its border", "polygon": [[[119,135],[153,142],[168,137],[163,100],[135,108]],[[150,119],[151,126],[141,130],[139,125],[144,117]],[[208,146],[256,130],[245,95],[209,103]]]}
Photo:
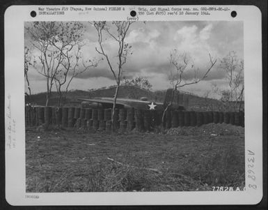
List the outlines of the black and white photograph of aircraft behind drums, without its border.
{"label": "black and white photograph of aircraft behind drums, without its border", "polygon": [[26,192],[244,190],[242,22],[24,30]]}

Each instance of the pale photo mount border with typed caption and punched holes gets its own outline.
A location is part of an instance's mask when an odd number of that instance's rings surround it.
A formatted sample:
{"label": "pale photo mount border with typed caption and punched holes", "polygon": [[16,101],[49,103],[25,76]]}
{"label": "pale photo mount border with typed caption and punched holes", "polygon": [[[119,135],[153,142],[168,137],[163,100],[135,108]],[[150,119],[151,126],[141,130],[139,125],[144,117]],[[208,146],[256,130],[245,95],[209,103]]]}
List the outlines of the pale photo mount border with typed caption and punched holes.
{"label": "pale photo mount border with typed caption and punched holes", "polygon": [[[222,6],[228,11],[193,17],[151,15],[139,21],[225,20],[244,22],[245,82],[245,191],[157,192],[157,193],[26,193],[25,123],[24,123],[24,22],[129,20],[129,12],[154,6],[120,6],[125,10],[38,15],[32,10],[62,6],[10,6],[4,19],[5,38],[5,134],[6,134],[6,200],[11,205],[152,205],[152,204],[258,204],[262,200],[262,24],[261,12],[255,6]],[[70,7],[70,6],[68,6]],[[74,6],[75,7],[75,6]],[[79,6],[83,7],[83,6]],[[107,8],[109,6],[87,6]],[[189,7],[205,6],[157,6]],[[210,7],[210,6],[207,6]],[[213,6],[218,7],[218,6]],[[220,7],[220,6],[219,6]],[[230,11],[235,10],[233,18]],[[8,125],[13,130],[8,129]],[[253,164],[255,181],[247,173]],[[257,189],[252,186],[257,186]]]}

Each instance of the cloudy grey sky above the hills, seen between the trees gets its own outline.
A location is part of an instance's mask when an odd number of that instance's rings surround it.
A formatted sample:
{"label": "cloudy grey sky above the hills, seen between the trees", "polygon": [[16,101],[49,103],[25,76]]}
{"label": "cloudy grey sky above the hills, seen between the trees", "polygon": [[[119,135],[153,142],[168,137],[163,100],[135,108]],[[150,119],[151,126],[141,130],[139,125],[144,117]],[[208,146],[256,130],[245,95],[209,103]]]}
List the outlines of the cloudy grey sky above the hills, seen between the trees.
{"label": "cloudy grey sky above the hills, seen between the trees", "polygon": [[[30,24],[29,22],[26,24]],[[95,47],[98,47],[97,32],[88,22],[83,22],[85,32],[82,47],[82,57],[87,59],[101,59]],[[108,23],[110,24],[110,23]],[[113,25],[111,25],[111,30]],[[25,35],[25,45],[33,50],[32,54],[38,56],[38,50],[31,45],[31,37]],[[227,21],[177,21],[177,22],[134,22],[126,36],[126,42],[132,46],[132,54],[127,57],[123,66],[124,76],[145,77],[152,84],[152,90],[171,88],[168,74],[175,70],[169,61],[172,50],[180,54],[186,53],[191,63],[198,69],[198,75],[203,75],[210,66],[210,57],[216,59],[216,64],[205,80],[182,88],[199,96],[210,91],[212,83],[219,87],[226,86],[226,79],[219,64],[228,52],[235,51],[237,57],[243,59],[243,23]],[[104,50],[114,67],[118,61],[116,52],[118,45],[115,40],[104,36]],[[188,70],[186,80],[193,80],[194,73]],[[45,77],[35,68],[29,68],[29,80],[32,93],[46,91]],[[85,73],[74,78],[70,89],[97,89],[114,85],[115,80],[109,70],[107,61],[100,61],[95,68],[89,68]],[[26,87],[26,86],[25,86]]]}

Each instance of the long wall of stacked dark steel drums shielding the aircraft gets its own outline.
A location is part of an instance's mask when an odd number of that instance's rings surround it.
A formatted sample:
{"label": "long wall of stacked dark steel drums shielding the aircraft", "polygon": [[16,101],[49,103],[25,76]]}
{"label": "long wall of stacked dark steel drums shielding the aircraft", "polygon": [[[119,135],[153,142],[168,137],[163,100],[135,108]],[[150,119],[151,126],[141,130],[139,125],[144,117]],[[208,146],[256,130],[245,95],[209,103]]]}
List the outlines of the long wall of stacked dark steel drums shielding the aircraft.
{"label": "long wall of stacked dark steel drums shielding the aircraft", "polygon": [[[163,111],[81,108],[81,107],[43,107],[26,106],[26,126],[45,124],[68,128],[84,128],[100,131],[133,130],[150,131],[161,126]],[[113,123],[112,123],[113,121]],[[194,112],[167,110],[164,116],[164,127],[202,126],[207,123],[230,123],[244,127],[244,112]],[[112,128],[113,125],[113,128]]]}

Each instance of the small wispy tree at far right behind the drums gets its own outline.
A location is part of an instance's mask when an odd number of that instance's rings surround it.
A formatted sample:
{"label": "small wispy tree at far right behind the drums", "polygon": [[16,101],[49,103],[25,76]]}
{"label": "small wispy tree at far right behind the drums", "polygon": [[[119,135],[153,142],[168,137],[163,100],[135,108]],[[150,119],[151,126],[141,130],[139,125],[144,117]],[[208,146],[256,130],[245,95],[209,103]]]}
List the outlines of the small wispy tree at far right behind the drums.
{"label": "small wispy tree at far right behind the drums", "polygon": [[232,111],[237,110],[239,103],[240,111],[244,100],[244,61],[232,51],[221,60],[220,68],[226,72],[228,83],[228,88],[221,90],[221,101]]}

